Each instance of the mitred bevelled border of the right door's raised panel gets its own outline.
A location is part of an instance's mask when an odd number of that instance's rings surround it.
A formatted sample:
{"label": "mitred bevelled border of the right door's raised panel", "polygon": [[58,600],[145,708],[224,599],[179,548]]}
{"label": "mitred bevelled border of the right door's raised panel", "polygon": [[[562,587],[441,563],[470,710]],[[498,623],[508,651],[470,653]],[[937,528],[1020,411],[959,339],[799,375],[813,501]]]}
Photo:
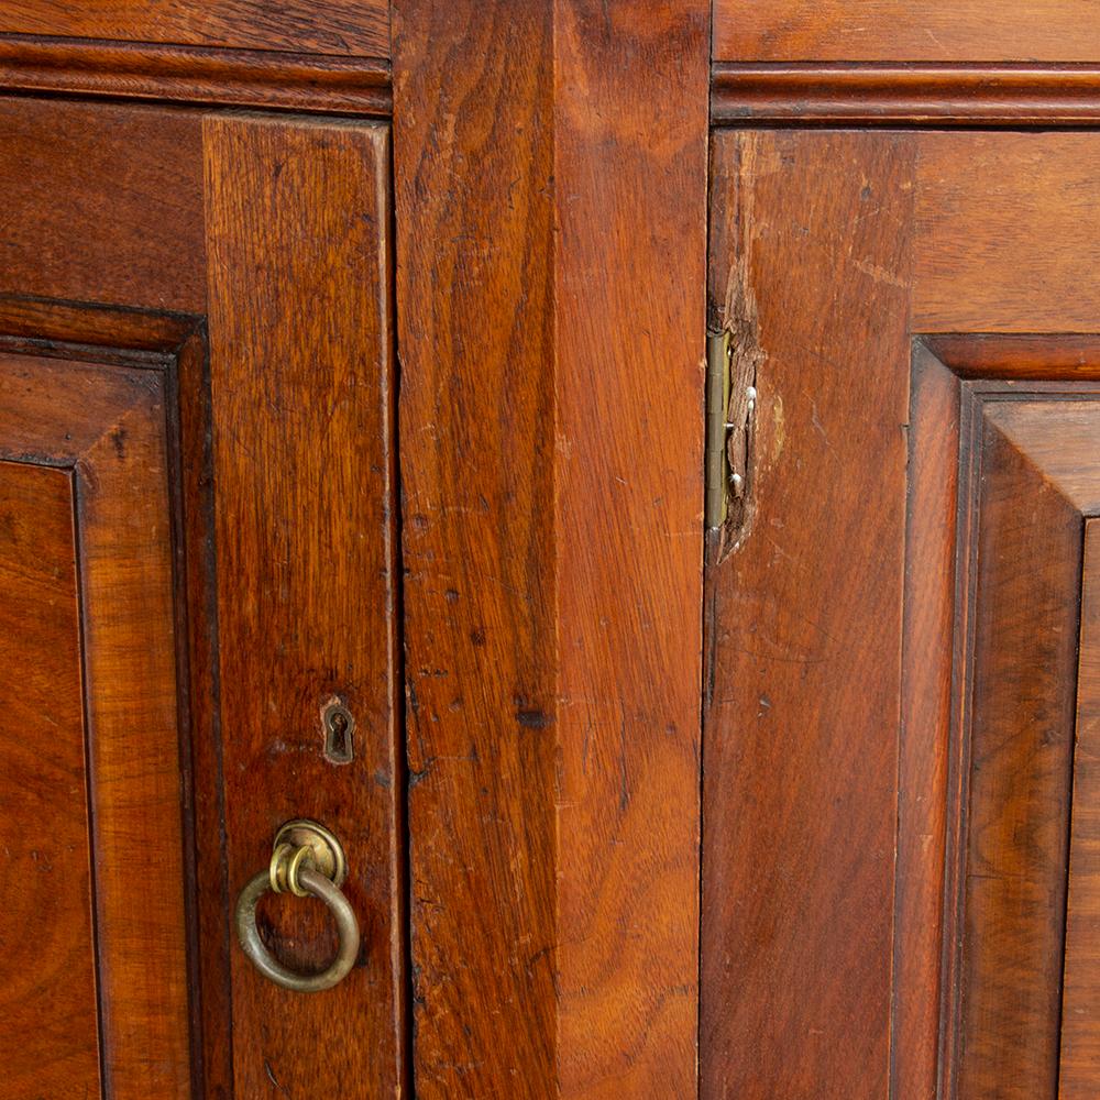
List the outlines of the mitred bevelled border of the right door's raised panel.
{"label": "mitred bevelled border of the right door's raised panel", "polygon": [[1096,439],[1098,408],[989,402],[974,411],[974,637],[957,658],[968,738],[959,1100],[1057,1094],[1081,514],[1046,459],[1071,459],[1080,476],[1072,437]]}

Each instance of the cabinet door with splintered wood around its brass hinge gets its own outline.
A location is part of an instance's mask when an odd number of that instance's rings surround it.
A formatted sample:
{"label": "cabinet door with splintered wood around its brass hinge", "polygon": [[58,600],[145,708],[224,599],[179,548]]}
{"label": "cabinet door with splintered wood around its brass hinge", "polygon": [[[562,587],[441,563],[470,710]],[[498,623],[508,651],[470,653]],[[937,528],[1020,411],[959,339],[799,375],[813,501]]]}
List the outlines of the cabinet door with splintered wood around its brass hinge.
{"label": "cabinet door with splintered wood around its brass hinge", "polygon": [[703,1094],[1094,1097],[1100,142],[713,163]]}

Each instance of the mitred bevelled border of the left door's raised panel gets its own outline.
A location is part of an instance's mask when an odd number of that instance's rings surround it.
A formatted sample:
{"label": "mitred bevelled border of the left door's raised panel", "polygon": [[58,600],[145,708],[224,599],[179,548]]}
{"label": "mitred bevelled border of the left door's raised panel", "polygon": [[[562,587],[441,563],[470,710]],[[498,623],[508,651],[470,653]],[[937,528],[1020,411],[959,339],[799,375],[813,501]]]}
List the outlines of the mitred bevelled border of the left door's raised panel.
{"label": "mitred bevelled border of the left door's raised panel", "polygon": [[[102,1074],[127,1100],[190,1097],[164,375],[10,354],[0,355],[0,458],[74,471],[87,722],[79,751],[91,814],[70,825],[91,834],[95,930],[86,925],[80,942],[98,960]],[[73,542],[69,534],[54,552],[72,557]],[[67,675],[79,686],[79,667]],[[50,913],[46,905],[36,917]]]}

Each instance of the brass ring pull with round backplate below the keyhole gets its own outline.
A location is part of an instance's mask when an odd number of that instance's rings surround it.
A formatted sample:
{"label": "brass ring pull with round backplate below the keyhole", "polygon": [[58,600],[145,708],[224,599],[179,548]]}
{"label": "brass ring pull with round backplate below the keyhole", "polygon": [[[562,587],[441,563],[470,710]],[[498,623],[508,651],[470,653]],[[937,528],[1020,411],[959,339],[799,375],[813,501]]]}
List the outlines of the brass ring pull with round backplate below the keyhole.
{"label": "brass ring pull with round backplate below the keyhole", "polygon": [[[340,883],[348,873],[340,842],[323,825],[300,818],[287,822],[275,835],[271,866],[254,875],[237,899],[237,938],[253,966],[265,977],[299,993],[331,989],[348,976],[359,956],[359,922]],[[340,933],[337,957],[321,974],[297,974],[267,950],[256,927],[256,905],[267,890],[312,894],[329,906]]]}

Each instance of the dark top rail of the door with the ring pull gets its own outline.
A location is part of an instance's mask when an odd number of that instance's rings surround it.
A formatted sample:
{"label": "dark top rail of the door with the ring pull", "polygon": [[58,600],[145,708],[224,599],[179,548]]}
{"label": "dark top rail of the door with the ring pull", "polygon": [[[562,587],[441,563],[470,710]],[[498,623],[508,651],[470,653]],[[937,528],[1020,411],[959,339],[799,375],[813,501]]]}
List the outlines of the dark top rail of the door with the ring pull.
{"label": "dark top rail of the door with the ring pull", "polygon": [[200,314],[197,116],[0,100],[0,292]]}

